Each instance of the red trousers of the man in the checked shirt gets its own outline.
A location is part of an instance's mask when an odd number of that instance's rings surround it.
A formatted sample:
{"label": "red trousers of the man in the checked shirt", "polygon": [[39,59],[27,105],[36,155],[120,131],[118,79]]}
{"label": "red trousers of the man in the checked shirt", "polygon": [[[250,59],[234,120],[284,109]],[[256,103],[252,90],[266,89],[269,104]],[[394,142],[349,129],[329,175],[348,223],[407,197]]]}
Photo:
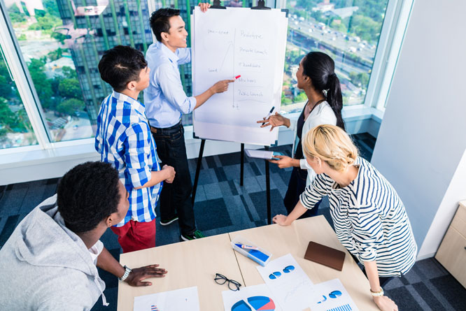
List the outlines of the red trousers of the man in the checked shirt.
{"label": "red trousers of the man in the checked shirt", "polygon": [[155,219],[152,222],[129,220],[125,226],[111,227],[124,253],[155,247]]}

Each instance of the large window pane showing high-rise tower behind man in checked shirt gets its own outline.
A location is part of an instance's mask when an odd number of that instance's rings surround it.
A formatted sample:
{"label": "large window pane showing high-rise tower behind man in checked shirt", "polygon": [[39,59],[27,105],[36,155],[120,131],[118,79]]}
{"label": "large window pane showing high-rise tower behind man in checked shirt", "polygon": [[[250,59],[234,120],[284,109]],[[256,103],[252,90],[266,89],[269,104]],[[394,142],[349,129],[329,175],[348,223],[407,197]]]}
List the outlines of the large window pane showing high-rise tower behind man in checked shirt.
{"label": "large window pane showing high-rise tower behind man in checked shirt", "polygon": [[147,1],[8,1],[8,15],[50,140],[94,136],[101,101],[112,90],[97,65],[115,45],[146,51],[152,43]]}

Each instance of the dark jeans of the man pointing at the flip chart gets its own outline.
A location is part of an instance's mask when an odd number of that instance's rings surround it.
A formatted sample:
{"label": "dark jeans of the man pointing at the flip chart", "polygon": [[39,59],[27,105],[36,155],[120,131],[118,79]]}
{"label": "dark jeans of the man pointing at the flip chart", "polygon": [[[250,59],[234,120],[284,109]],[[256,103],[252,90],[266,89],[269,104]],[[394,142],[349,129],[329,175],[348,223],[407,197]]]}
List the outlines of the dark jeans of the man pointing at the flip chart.
{"label": "dark jeans of the man pointing at the flip chart", "polygon": [[157,154],[165,164],[175,169],[173,183],[164,182],[160,193],[160,218],[169,220],[178,213],[178,225],[182,234],[196,230],[196,222],[191,203],[192,182],[186,156],[183,124],[178,123],[166,129],[150,127],[157,147]]}

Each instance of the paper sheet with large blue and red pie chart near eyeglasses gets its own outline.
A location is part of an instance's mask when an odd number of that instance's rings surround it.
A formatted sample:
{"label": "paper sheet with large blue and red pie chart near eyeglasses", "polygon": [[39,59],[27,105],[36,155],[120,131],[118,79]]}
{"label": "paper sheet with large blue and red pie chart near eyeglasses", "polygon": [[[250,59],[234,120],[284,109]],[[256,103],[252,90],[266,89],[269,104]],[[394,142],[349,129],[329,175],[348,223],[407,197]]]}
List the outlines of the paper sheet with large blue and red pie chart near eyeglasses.
{"label": "paper sheet with large blue and red pie chart near eyeglasses", "polygon": [[222,291],[225,311],[281,311],[266,284],[241,287],[239,291]]}

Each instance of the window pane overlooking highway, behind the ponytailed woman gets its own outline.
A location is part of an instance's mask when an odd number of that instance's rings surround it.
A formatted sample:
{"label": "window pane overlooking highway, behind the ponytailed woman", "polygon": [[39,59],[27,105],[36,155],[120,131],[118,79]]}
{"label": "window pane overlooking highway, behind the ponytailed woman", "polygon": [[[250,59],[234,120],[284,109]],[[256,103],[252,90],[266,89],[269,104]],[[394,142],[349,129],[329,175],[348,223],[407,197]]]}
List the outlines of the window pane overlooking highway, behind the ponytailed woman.
{"label": "window pane overlooking highway, behind the ponytailed woman", "polygon": [[344,106],[364,103],[388,0],[296,0],[290,10],[282,110],[302,110],[297,66],[306,53],[325,52],[335,61]]}

